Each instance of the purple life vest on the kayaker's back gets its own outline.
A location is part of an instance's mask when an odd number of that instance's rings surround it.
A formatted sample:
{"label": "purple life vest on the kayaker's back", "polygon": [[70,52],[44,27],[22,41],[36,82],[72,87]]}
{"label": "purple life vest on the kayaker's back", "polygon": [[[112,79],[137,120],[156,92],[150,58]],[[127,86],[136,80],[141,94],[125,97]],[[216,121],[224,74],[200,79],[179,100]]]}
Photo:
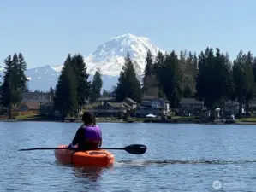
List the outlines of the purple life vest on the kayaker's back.
{"label": "purple life vest on the kayaker's back", "polygon": [[83,126],[86,142],[100,143],[101,141],[101,131],[98,125],[95,126]]}

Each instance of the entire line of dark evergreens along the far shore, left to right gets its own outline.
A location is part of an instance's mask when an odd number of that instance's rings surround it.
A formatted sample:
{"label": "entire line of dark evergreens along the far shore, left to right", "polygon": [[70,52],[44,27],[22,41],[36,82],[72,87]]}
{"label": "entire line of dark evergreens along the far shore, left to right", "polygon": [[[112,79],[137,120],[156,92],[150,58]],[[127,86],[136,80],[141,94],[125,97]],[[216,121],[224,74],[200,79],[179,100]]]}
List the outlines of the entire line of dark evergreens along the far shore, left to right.
{"label": "entire line of dark evergreens along the far shore, left to right", "polygon": [[[3,83],[0,87],[1,103],[12,108],[21,102],[21,92],[28,91],[24,74],[27,64],[23,55],[9,55],[5,60]],[[176,53],[158,52],[155,57],[147,52],[146,67],[141,79],[135,73],[129,53],[119,75],[113,93],[116,102],[129,97],[141,102],[143,96],[161,97],[170,102],[170,107],[179,106],[182,97],[194,97],[214,109],[227,100],[248,103],[256,96],[256,57],[249,51],[240,51],[234,61],[220,49],[207,47],[199,55],[191,51]],[[104,90],[98,69],[92,82],[88,80],[83,56],[68,55],[55,89],[50,90],[55,108],[63,114],[77,115],[86,102],[95,102],[100,96],[109,96]],[[11,111],[11,110],[10,110]]]}

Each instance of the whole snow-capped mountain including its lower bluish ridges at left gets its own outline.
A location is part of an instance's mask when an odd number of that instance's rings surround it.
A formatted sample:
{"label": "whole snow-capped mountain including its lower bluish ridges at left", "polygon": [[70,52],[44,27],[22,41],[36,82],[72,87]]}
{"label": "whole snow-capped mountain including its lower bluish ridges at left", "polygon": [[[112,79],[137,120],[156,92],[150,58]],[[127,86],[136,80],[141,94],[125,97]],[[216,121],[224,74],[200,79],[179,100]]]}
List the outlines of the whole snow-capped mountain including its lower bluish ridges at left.
{"label": "whole snow-capped mountain including its lower bluish ridges at left", "polygon": [[[115,38],[110,38],[104,44],[98,46],[90,55],[85,57],[89,79],[92,81],[93,75],[99,67],[103,78],[103,89],[111,90],[117,83],[118,76],[122,71],[124,58],[129,52],[136,73],[140,76],[144,72],[146,52],[150,50],[153,56],[158,51],[164,50],[153,45],[149,38],[136,37],[132,34],[125,34]],[[28,68],[26,71],[29,79],[30,90],[49,90],[55,87],[58,76],[63,65]],[[3,67],[0,67],[0,75],[3,75]]]}

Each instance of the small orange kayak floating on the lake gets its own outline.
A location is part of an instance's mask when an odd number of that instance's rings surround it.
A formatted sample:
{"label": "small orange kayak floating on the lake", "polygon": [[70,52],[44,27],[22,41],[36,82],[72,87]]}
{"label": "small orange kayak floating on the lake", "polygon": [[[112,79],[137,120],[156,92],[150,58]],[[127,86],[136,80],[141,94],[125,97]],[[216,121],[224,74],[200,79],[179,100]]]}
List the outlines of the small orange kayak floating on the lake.
{"label": "small orange kayak floating on the lake", "polygon": [[110,166],[115,162],[114,154],[106,150],[79,151],[65,149],[68,146],[60,145],[54,150],[55,158],[64,164],[84,165],[84,166]]}

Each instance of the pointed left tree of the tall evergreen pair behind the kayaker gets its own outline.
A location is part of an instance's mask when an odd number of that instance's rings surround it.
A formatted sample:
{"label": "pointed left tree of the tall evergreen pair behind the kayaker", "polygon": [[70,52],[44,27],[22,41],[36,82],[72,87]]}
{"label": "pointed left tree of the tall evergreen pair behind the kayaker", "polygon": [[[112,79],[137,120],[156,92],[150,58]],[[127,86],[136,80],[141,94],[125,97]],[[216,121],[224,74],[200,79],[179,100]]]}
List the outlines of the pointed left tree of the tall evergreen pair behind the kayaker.
{"label": "pointed left tree of the tall evergreen pair behind the kayaker", "polygon": [[54,106],[61,112],[63,119],[68,115],[73,115],[78,108],[77,81],[70,55],[64,62],[62,73],[58,78]]}

